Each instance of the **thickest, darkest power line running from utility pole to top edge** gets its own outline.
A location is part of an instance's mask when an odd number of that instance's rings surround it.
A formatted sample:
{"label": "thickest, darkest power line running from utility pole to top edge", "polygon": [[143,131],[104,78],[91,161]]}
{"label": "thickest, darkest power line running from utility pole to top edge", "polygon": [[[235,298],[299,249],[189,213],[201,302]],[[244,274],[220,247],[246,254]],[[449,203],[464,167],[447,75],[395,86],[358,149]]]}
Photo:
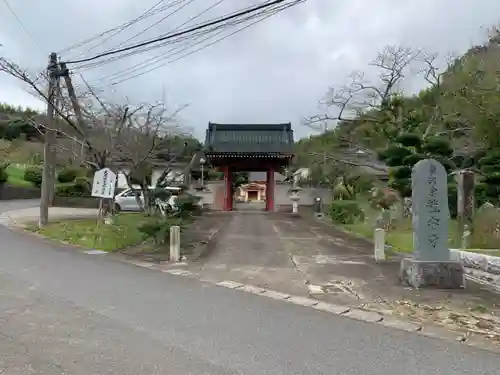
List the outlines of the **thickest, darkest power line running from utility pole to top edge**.
{"label": "thickest, darkest power line running from utility pole to top edge", "polygon": [[178,37],[178,36],[189,34],[189,33],[193,32],[193,31],[202,30],[202,29],[205,29],[207,27],[223,23],[225,21],[230,21],[230,20],[238,18],[240,16],[244,16],[244,15],[249,14],[249,13],[254,13],[256,11],[269,8],[270,6],[273,6],[273,5],[281,4],[284,1],[285,0],[274,0],[274,1],[271,1],[271,2],[267,2],[265,4],[261,4],[261,5],[255,6],[252,9],[244,10],[244,11],[235,13],[235,14],[230,15],[230,16],[222,17],[222,18],[220,18],[218,20],[213,20],[213,21],[204,23],[202,25],[199,25],[199,26],[196,26],[196,27],[184,30],[184,31],[180,31],[180,32],[177,32],[177,33],[174,33],[174,34],[163,36],[161,38],[156,38],[156,39],[153,39],[153,40],[150,40],[150,41],[138,43],[138,44],[135,44],[135,45],[132,45],[132,46],[129,46],[129,47],[120,48],[120,49],[117,49],[117,50],[114,50],[114,51],[103,52],[103,53],[100,53],[100,54],[92,56],[92,57],[87,57],[87,58],[79,59],[79,60],[66,61],[66,64],[77,64],[77,63],[82,63],[82,62],[87,62],[87,61],[93,61],[93,60],[97,60],[97,59],[99,59],[101,57],[115,55],[117,53],[127,52],[127,51],[130,51],[130,50],[136,49],[136,48],[144,47],[144,46],[147,46],[149,44],[162,42],[164,40],[168,40],[168,39],[172,39],[172,38],[175,38],[175,37]]}

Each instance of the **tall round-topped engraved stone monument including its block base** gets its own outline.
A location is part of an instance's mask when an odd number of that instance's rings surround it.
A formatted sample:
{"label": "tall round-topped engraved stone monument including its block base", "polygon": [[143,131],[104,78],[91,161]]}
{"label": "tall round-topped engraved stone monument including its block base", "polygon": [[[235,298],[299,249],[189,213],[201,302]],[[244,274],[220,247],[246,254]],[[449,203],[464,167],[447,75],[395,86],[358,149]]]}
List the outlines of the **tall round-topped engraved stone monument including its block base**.
{"label": "tall round-topped engraved stone monument including its block base", "polygon": [[443,165],[421,160],[412,171],[413,256],[401,261],[400,280],[414,288],[465,286],[459,261],[448,248],[448,182]]}

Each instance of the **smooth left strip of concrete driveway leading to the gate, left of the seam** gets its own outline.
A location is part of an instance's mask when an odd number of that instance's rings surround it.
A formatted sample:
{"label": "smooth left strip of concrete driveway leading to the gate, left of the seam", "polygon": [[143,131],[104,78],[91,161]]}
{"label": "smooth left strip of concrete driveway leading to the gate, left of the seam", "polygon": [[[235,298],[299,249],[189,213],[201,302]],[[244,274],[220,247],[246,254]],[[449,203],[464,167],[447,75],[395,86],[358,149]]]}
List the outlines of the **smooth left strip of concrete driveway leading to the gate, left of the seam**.
{"label": "smooth left strip of concrete driveway leading to the gate, left of the seam", "polygon": [[262,288],[307,295],[306,278],[294,266],[271,215],[235,211],[210,244],[212,252],[189,268],[207,280],[237,280]]}

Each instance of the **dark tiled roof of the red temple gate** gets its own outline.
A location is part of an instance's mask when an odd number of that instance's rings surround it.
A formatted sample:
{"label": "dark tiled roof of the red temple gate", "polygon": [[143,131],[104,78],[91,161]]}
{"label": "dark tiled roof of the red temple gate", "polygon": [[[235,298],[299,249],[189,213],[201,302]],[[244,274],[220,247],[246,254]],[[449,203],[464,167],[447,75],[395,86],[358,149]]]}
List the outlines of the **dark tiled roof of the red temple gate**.
{"label": "dark tiled roof of the red temple gate", "polygon": [[210,122],[206,153],[293,153],[293,130],[285,124],[216,124]]}

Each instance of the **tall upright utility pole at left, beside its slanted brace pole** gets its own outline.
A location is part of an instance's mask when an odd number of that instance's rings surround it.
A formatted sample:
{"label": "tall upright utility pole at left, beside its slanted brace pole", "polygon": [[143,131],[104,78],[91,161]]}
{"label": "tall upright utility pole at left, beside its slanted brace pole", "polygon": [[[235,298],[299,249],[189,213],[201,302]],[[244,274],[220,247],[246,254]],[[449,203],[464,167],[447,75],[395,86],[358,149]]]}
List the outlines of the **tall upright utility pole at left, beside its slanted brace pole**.
{"label": "tall upright utility pole at left, beside its slanted brace pole", "polygon": [[43,157],[42,194],[40,200],[40,228],[49,223],[49,205],[52,201],[51,193],[55,184],[55,138],[54,130],[55,118],[55,93],[59,81],[59,69],[57,65],[57,54],[51,53],[49,65],[47,67],[49,76],[49,91],[47,95],[47,125],[45,128],[45,144]]}

